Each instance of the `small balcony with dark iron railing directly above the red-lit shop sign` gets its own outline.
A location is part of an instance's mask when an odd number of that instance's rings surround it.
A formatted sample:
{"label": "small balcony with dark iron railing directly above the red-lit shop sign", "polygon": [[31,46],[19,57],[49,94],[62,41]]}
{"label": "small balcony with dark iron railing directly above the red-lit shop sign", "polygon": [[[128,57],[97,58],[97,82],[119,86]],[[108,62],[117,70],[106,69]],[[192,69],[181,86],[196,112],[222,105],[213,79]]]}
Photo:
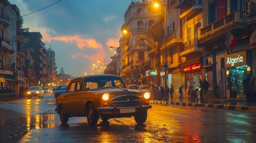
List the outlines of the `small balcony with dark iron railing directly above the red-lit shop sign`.
{"label": "small balcony with dark iron railing directly above the red-lit shop sign", "polygon": [[184,51],[180,52],[180,56],[191,54],[194,52],[200,52],[201,44],[198,42],[198,38],[193,38],[184,43]]}

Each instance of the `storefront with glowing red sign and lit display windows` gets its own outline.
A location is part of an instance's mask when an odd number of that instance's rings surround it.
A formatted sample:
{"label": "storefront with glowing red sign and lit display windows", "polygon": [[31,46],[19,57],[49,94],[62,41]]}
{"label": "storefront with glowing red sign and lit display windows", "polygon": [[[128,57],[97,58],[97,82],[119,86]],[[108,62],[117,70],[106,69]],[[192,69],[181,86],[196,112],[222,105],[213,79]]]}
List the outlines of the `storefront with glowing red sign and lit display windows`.
{"label": "storefront with glowing red sign and lit display windows", "polygon": [[200,89],[199,81],[202,79],[200,62],[184,66],[182,69],[185,74],[184,89],[188,90],[191,86]]}

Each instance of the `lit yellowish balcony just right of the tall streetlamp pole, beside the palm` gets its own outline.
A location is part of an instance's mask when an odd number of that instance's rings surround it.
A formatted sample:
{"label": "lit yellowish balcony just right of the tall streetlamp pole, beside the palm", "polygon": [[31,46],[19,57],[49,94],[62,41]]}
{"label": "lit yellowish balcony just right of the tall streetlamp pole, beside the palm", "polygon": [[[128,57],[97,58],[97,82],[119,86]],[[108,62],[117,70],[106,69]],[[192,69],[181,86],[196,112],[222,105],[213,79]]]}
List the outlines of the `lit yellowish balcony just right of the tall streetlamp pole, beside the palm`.
{"label": "lit yellowish balcony just right of the tall streetlamp pole, beside the palm", "polygon": [[[166,36],[166,47],[172,47],[180,43],[182,43],[182,36],[180,35],[180,31],[173,31]],[[165,47],[164,42],[162,45],[163,46],[161,47],[161,50],[163,50]]]}

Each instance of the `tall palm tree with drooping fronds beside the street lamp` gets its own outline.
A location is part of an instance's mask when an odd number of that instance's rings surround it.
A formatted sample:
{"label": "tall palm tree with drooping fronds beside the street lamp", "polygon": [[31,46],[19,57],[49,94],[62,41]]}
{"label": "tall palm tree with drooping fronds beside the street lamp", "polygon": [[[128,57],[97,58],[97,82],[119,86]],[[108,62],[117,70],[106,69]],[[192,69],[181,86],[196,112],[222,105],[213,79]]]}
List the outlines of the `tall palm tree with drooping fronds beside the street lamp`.
{"label": "tall palm tree with drooping fronds beside the street lamp", "polygon": [[160,72],[162,65],[160,63],[161,57],[161,43],[164,40],[164,27],[160,22],[157,22],[152,28],[148,28],[148,35],[137,37],[137,40],[147,40],[147,45],[152,48],[153,57],[155,57],[155,65],[157,68],[157,84],[161,83]]}

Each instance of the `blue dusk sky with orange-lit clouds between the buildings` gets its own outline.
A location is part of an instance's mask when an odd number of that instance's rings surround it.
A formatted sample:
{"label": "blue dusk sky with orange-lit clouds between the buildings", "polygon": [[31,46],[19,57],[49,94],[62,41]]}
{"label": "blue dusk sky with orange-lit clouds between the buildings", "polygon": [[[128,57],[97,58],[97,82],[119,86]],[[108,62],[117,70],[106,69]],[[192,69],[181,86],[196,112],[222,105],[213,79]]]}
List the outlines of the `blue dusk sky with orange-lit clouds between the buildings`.
{"label": "blue dusk sky with orange-lit clouds between the buildings", "polygon": [[[37,11],[58,0],[9,0],[20,15]],[[23,28],[40,32],[48,49],[55,51],[57,72],[82,76],[93,73],[92,64],[111,62],[119,46],[124,13],[131,0],[61,0],[24,16]]]}

